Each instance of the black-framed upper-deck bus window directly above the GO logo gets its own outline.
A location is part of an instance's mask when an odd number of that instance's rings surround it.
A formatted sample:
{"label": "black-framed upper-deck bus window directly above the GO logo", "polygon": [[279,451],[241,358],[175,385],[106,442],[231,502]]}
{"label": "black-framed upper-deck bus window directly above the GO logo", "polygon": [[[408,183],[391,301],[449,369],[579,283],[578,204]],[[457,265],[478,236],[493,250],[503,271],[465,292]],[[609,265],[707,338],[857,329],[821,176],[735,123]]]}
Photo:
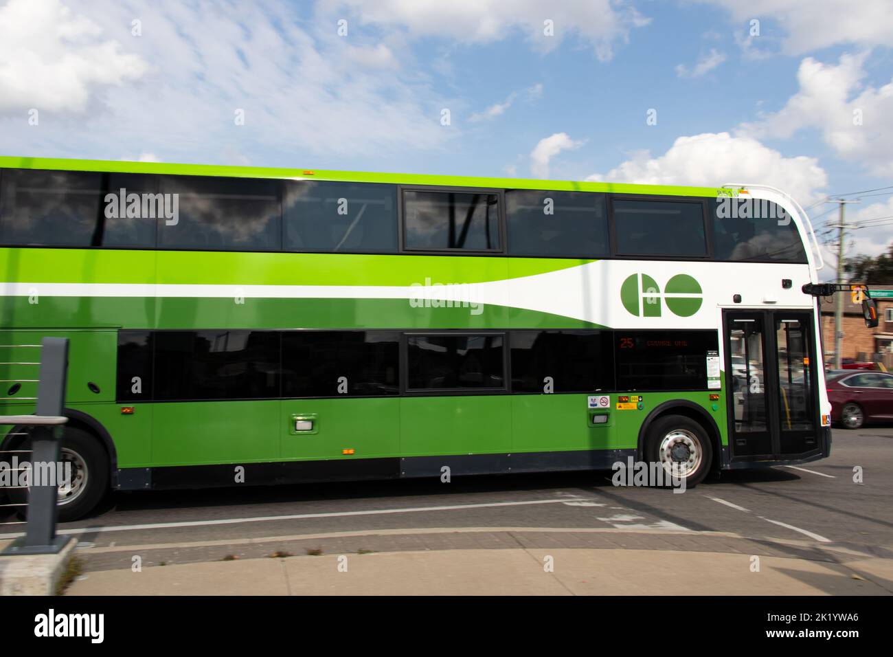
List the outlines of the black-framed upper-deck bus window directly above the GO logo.
{"label": "black-framed upper-deck bus window directly above the GO logo", "polygon": [[622,256],[704,257],[700,202],[613,199],[613,230]]}

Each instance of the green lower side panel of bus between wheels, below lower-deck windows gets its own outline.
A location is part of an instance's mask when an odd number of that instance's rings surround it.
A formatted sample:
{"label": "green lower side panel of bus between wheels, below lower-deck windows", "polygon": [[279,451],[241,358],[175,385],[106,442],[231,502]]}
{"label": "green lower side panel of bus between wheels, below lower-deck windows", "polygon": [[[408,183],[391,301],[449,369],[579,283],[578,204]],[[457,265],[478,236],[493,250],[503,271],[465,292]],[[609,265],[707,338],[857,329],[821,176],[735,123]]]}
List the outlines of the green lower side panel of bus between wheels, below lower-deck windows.
{"label": "green lower side panel of bus between wheels, below lower-deck windows", "polygon": [[[666,401],[704,408],[728,444],[725,402],[709,392],[643,392],[642,409],[617,410],[593,425],[585,394],[475,395],[320,400],[69,404],[114,438],[118,467],[199,466],[318,459],[632,450],[639,428]],[[12,404],[0,412],[12,413]],[[313,433],[294,431],[313,417]],[[353,450],[352,454],[343,453]]]}

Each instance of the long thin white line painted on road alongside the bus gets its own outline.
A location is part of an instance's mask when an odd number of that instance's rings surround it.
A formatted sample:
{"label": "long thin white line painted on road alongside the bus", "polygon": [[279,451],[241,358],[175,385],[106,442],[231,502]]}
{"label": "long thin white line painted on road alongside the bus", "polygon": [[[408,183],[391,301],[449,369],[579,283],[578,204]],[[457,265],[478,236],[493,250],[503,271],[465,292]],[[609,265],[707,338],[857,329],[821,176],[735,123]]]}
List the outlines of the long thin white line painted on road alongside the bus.
{"label": "long thin white line painted on road alongside the bus", "polygon": [[[582,499],[582,498],[581,498]],[[368,511],[332,511],[330,513],[296,513],[290,516],[262,516],[255,518],[221,518],[218,520],[188,520],[185,522],[155,522],[145,525],[112,525],[88,526],[77,529],[60,529],[56,534],[102,534],[104,532],[128,532],[140,529],[173,529],[176,527],[197,527],[213,525],[238,525],[246,522],[270,522],[276,520],[307,520],[313,518],[342,518],[347,516],[378,516],[391,513],[418,513],[420,511],[455,511],[463,509],[488,509],[494,507],[518,507],[532,504],[563,504],[565,500],[530,500],[530,501],[496,501],[484,504],[452,504],[442,507],[408,507],[406,509],[380,509]],[[18,534],[0,534],[0,539],[12,539],[23,536]]]}

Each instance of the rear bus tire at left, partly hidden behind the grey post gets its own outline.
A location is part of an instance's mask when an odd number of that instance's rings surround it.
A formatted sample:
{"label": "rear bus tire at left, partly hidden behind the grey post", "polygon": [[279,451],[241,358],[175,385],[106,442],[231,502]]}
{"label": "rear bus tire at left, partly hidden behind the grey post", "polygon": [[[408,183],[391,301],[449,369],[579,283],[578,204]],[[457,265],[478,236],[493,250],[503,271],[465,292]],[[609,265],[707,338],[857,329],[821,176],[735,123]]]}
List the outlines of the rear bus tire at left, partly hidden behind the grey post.
{"label": "rear bus tire at left, partly hidden behind the grey post", "polygon": [[[26,438],[17,449],[30,450]],[[58,513],[60,522],[83,518],[102,501],[109,489],[109,458],[99,439],[83,429],[63,428],[61,460],[71,463],[71,485],[60,485]],[[28,493],[15,490],[9,493],[13,503],[24,504]],[[20,515],[27,516],[27,507],[20,507]]]}

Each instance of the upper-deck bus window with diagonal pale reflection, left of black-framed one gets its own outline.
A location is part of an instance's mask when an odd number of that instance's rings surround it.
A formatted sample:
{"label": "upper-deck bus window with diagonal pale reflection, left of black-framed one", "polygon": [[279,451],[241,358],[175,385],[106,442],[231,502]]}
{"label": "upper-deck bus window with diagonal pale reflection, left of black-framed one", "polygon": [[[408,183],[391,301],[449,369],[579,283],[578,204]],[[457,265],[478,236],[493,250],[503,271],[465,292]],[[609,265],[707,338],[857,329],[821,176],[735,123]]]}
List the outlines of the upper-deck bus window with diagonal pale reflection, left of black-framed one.
{"label": "upper-deck bus window with diagonal pale reflection, left of black-framed one", "polygon": [[396,253],[396,187],[287,181],[285,250]]}

